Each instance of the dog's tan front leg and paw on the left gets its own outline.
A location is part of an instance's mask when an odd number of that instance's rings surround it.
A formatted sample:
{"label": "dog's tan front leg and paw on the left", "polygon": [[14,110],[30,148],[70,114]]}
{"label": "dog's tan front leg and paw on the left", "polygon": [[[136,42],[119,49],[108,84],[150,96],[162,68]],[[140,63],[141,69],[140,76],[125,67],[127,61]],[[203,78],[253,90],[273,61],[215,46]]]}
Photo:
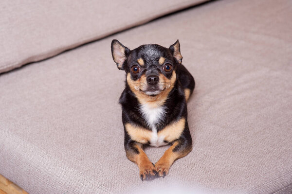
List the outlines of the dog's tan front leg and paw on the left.
{"label": "dog's tan front leg and paw on the left", "polygon": [[151,180],[156,177],[157,171],[143,151],[142,146],[141,143],[135,141],[128,142],[125,145],[126,155],[129,160],[138,165],[141,180]]}

